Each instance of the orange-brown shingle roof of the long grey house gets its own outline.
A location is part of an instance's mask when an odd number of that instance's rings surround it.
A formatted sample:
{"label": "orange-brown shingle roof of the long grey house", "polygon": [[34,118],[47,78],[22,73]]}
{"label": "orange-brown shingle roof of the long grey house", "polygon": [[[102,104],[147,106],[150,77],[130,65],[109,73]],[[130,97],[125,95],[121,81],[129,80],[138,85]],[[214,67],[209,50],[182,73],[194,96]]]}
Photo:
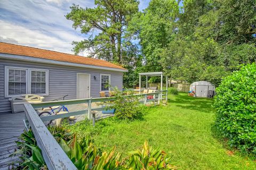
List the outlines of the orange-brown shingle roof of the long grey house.
{"label": "orange-brown shingle roof of the long grey house", "polygon": [[127,69],[124,69],[122,66],[119,66],[104,60],[98,60],[98,59],[89,58],[89,57],[55,52],[47,49],[40,49],[40,48],[21,46],[21,45],[2,43],[2,42],[0,42],[0,54],[1,53],[19,55],[19,56],[28,56],[28,57],[34,57],[34,58],[42,58],[46,60],[54,60],[54,61],[60,61],[60,62],[109,67],[113,69],[120,69],[121,71],[122,70],[127,71]]}

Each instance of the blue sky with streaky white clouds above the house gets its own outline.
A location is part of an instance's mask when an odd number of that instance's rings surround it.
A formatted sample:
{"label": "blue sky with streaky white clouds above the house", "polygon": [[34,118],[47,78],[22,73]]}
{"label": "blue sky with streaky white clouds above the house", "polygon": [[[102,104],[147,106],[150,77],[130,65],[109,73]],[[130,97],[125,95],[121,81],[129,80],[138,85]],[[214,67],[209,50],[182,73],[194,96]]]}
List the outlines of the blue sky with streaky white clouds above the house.
{"label": "blue sky with streaky white clouds above the house", "polygon": [[[139,10],[149,1],[141,0]],[[72,4],[95,6],[94,0],[0,0],[0,41],[74,54],[72,41],[83,40],[86,35],[65,18]]]}

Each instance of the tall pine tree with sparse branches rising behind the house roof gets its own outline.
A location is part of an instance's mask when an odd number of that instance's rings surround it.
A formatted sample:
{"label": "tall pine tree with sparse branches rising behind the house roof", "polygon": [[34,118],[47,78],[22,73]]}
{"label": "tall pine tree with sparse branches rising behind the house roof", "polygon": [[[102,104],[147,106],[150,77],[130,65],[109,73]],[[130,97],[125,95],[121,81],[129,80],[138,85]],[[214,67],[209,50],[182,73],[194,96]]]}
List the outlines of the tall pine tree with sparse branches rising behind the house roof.
{"label": "tall pine tree with sparse branches rising behind the house roof", "polygon": [[85,9],[73,4],[66,18],[74,22],[75,29],[80,28],[81,33],[89,36],[73,42],[74,52],[89,50],[91,57],[121,64],[122,45],[128,39],[126,28],[138,12],[138,4],[137,0],[95,0],[96,7]]}

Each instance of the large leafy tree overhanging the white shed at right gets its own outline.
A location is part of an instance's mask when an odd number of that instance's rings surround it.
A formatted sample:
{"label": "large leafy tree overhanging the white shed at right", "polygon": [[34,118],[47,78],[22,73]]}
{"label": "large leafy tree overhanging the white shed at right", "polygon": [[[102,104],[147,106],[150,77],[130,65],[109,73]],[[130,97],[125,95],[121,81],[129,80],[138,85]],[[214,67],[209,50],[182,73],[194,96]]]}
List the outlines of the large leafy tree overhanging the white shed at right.
{"label": "large leafy tree overhanging the white shed at right", "polygon": [[183,1],[177,34],[161,53],[163,70],[188,82],[220,84],[256,61],[256,1]]}

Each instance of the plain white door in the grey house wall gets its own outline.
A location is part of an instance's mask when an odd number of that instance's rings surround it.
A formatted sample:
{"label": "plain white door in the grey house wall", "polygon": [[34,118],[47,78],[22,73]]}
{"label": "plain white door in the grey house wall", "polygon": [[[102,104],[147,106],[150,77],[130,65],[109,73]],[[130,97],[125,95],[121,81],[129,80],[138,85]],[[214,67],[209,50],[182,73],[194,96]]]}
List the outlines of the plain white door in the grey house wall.
{"label": "plain white door in the grey house wall", "polygon": [[90,74],[77,73],[77,99],[90,98]]}

